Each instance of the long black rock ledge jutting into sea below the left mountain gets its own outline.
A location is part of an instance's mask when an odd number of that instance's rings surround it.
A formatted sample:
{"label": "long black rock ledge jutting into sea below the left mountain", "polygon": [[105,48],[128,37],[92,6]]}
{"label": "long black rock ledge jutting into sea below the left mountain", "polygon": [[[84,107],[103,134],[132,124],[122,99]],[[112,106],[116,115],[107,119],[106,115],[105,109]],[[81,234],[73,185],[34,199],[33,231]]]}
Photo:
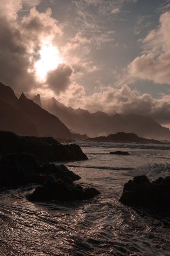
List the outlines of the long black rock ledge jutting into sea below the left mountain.
{"label": "long black rock ledge jutting into sea below the left mountain", "polygon": [[17,152],[34,154],[42,162],[88,159],[76,144],[62,145],[51,137],[21,137],[13,132],[0,131],[0,155]]}

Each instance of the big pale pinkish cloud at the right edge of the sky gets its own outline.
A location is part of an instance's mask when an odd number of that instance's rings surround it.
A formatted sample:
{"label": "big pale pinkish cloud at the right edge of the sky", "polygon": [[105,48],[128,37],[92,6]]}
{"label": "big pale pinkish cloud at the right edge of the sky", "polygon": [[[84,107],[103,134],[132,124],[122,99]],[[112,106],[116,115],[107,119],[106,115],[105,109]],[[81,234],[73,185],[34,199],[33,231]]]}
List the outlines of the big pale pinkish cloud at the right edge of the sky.
{"label": "big pale pinkish cloud at the right edge of the sky", "polygon": [[141,40],[143,53],[128,66],[131,77],[170,84],[170,12],[160,16],[160,25]]}

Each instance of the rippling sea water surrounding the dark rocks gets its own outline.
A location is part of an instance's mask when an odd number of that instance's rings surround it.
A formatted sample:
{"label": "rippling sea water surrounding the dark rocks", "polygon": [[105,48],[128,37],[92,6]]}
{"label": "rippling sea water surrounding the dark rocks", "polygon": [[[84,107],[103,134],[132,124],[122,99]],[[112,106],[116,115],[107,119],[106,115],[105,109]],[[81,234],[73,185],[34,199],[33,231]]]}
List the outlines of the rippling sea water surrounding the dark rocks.
{"label": "rippling sea water surrounding the dark rocks", "polygon": [[[33,203],[26,196],[35,185],[1,191],[0,255],[169,256],[169,216],[125,206],[119,198],[134,176],[152,181],[170,175],[170,144],[76,143],[89,160],[62,163],[82,177],[78,184],[101,194],[84,201]],[[109,155],[117,150],[130,155]]]}

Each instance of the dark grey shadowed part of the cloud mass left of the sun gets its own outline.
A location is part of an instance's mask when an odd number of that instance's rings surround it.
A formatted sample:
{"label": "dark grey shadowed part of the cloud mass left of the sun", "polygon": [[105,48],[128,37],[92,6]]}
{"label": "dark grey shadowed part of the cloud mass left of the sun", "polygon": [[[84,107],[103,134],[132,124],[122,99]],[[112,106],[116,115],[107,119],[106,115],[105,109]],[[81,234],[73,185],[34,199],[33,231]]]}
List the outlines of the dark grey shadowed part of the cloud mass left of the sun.
{"label": "dark grey shadowed part of the cloud mass left of the sun", "polygon": [[12,26],[5,17],[0,17],[0,77],[1,82],[16,92],[27,91],[36,85],[27,47],[17,26]]}

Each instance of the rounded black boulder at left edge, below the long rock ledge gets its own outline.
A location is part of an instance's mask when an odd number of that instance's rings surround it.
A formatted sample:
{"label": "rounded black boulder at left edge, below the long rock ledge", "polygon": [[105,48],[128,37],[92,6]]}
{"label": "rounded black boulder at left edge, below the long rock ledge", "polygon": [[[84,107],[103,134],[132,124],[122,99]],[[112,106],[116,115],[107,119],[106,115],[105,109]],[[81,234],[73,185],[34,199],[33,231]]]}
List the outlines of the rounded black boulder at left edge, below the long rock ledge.
{"label": "rounded black boulder at left edge, below the long rock ledge", "polygon": [[37,173],[36,156],[27,153],[7,154],[0,158],[0,187],[16,187],[34,180]]}

